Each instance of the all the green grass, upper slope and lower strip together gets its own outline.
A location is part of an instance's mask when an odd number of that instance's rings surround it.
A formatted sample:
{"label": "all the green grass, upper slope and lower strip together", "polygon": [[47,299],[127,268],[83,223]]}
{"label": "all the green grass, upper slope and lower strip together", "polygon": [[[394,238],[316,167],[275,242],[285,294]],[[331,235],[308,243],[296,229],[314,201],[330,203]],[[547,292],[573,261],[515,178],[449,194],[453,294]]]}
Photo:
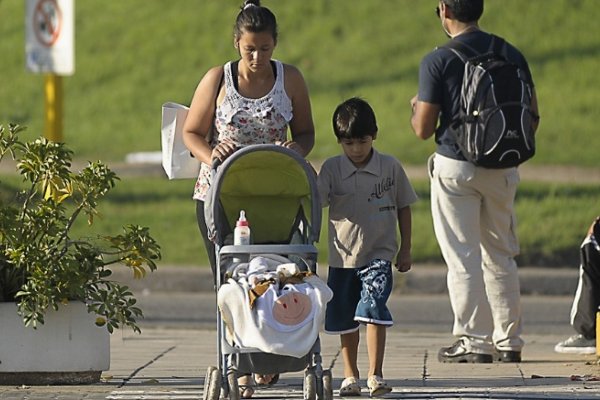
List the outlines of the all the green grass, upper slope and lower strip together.
{"label": "all the green grass, upper slope and lower strip together", "polygon": [[[236,58],[232,27],[241,0],[101,1],[75,3],[76,71],[64,82],[64,141],[78,160],[109,166],[128,153],[160,148],[160,110],[187,104],[208,68]],[[309,85],[316,145],[309,159],[339,151],[331,113],[350,96],[377,114],[379,149],[405,165],[423,164],[432,140],[415,138],[409,99],[423,55],[446,38],[426,0],[264,0],[278,17],[275,57],[297,65]],[[537,165],[598,165],[600,103],[598,0],[487,0],[481,27],[505,37],[527,56],[538,93],[541,126]],[[0,0],[2,89],[0,124],[44,130],[43,76],[25,70],[25,6]],[[12,177],[0,177],[9,198]],[[439,261],[425,181],[413,182],[415,262]],[[123,224],[149,226],[163,263],[205,265],[191,181],[123,178],[102,204],[102,218],[82,235],[115,233]],[[598,210],[600,188],[525,182],[517,198],[522,255],[530,265],[578,263],[581,239]],[[319,244],[325,260],[325,235]]]}

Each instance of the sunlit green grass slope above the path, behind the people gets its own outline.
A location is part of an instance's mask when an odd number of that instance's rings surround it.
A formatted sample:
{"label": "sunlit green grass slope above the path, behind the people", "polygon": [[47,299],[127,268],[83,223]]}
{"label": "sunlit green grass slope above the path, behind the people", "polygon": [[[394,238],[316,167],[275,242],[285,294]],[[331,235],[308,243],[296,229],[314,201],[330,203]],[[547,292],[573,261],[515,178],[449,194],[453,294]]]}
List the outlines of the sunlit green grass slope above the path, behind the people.
{"label": "sunlit green grass slope above the path, behind the people", "polygon": [[[84,160],[122,161],[158,150],[160,108],[188,103],[202,75],[236,58],[232,28],[241,0],[75,3],[76,70],[64,82],[64,140]],[[275,57],[309,85],[317,131],[310,154],[337,153],[331,113],[349,96],[369,100],[380,148],[421,164],[433,141],[411,132],[409,99],[420,59],[446,40],[435,0],[264,0],[277,15]],[[541,111],[534,164],[595,167],[600,148],[600,7],[597,0],[487,0],[481,27],[527,56]],[[0,123],[44,128],[43,76],[25,70],[25,6],[0,0]]]}

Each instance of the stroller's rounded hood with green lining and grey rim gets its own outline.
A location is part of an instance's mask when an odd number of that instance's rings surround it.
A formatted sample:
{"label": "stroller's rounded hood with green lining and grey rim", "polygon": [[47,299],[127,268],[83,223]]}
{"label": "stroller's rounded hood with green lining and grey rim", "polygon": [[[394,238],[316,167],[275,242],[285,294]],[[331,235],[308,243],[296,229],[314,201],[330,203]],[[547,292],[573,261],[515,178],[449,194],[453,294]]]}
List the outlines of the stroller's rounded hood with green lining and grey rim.
{"label": "stroller's rounded hood with green lining and grey rim", "polygon": [[205,202],[209,237],[223,245],[240,210],[246,212],[253,244],[290,243],[303,232],[306,243],[319,240],[321,207],[312,166],[293,150],[251,145],[213,169]]}

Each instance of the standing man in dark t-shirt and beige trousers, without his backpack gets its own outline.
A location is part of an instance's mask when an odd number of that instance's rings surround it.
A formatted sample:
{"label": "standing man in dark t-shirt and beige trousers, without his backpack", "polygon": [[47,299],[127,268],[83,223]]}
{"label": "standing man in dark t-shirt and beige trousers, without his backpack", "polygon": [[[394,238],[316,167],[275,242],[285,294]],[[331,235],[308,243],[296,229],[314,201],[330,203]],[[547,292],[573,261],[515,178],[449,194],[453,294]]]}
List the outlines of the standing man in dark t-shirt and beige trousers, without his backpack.
{"label": "standing man in dark t-shirt and beige trousers, without his backpack", "polygon": [[[436,8],[444,32],[478,53],[492,36],[479,27],[483,0],[443,0]],[[508,59],[528,75],[523,55],[507,43]],[[523,340],[520,287],[514,257],[519,252],[514,199],[516,167],[486,169],[466,161],[449,130],[457,117],[464,63],[448,48],[421,61],[418,95],[411,99],[411,125],[425,140],[435,135],[429,159],[434,231],[448,266],[447,284],[457,341],[438,353],[441,362],[520,362]],[[532,94],[537,117],[537,100]],[[439,119],[439,126],[438,126]],[[534,130],[537,128],[537,119]]]}

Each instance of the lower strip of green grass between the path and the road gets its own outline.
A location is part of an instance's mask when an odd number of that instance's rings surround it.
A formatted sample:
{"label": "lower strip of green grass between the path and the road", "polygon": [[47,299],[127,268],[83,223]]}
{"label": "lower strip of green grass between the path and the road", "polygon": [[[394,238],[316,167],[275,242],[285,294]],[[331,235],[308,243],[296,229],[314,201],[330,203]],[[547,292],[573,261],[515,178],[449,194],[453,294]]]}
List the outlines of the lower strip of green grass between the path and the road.
{"label": "lower strip of green grass between the path and the road", "polygon": [[[14,176],[0,178],[2,199],[18,186]],[[439,249],[431,223],[429,184],[413,182],[420,201],[413,210],[413,260],[439,262]],[[163,178],[123,178],[100,202],[100,216],[90,227],[85,221],[75,227],[73,237],[120,233],[125,224],[149,226],[162,247],[165,265],[207,265],[198,231],[192,182]],[[519,263],[536,266],[576,266],[579,245],[598,214],[600,187],[524,182],[517,196]],[[327,260],[327,210],[324,210],[319,259]],[[250,221],[252,223],[252,221]]]}

